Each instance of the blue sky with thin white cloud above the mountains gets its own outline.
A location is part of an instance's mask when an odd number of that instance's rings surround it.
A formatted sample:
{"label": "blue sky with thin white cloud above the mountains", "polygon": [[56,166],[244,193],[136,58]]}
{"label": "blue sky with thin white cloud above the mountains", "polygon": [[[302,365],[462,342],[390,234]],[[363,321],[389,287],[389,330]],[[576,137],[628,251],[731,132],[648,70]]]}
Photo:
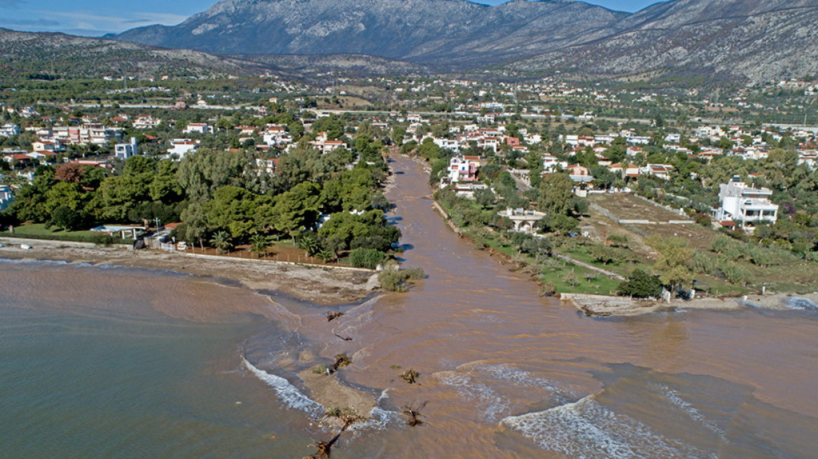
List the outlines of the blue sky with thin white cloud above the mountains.
{"label": "blue sky with thin white cloud above the mountains", "polygon": [[[476,1],[476,0],[474,0]],[[638,11],[657,0],[586,0],[619,11]],[[89,37],[143,25],[176,25],[216,0],[0,0],[0,27]],[[495,5],[503,0],[481,0]]]}

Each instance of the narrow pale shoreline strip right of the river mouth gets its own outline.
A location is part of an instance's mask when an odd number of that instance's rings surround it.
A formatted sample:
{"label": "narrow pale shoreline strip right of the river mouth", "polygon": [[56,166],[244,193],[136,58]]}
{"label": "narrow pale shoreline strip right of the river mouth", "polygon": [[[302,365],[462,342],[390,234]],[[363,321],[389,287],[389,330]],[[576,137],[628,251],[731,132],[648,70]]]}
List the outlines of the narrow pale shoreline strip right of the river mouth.
{"label": "narrow pale shoreline strip right of the river mouth", "polygon": [[774,293],[725,298],[696,298],[690,301],[654,301],[626,296],[575,295],[564,293],[560,299],[587,316],[629,316],[670,310],[739,310],[754,307],[767,310],[803,309],[803,300],[818,304],[818,293],[796,295]]}

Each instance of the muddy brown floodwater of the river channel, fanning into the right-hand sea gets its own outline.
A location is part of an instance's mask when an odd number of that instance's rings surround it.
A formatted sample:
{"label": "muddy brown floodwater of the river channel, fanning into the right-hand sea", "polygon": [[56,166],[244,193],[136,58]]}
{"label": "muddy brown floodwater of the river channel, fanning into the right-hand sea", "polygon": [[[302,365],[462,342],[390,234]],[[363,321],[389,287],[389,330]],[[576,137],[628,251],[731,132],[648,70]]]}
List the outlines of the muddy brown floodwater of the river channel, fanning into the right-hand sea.
{"label": "muddy brown floodwater of the river channel, fanning into the right-hand sea", "polygon": [[[332,323],[320,307],[294,307],[318,357],[353,356],[344,381],[385,392],[393,412],[426,403],[428,425],[352,436],[339,456],[809,457],[818,447],[808,307],[583,317],[457,238],[418,163],[391,164],[403,172],[389,191],[402,262],[428,279],[345,306]],[[401,380],[409,368],[419,384]]]}

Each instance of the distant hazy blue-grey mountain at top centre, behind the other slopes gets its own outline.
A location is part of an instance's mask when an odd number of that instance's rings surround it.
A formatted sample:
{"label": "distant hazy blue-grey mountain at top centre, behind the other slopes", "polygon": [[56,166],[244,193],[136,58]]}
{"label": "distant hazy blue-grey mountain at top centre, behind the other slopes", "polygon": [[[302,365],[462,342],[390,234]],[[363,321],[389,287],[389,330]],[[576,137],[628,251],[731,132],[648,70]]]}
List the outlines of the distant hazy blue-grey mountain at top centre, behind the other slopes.
{"label": "distant hazy blue-grey mountain at top centre, behind the other slopes", "polygon": [[476,67],[537,56],[627,13],[569,0],[225,0],[172,27],[115,37],[220,55],[356,53]]}

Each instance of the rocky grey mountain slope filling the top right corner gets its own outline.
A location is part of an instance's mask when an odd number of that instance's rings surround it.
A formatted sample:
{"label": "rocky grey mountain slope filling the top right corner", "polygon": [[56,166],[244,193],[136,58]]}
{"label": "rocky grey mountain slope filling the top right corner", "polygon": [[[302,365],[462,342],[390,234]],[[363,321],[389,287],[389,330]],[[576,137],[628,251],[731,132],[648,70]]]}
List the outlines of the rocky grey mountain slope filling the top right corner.
{"label": "rocky grey mountain slope filling the top right corner", "polygon": [[816,0],[676,0],[510,67],[748,84],[810,78],[818,75],[816,24]]}

